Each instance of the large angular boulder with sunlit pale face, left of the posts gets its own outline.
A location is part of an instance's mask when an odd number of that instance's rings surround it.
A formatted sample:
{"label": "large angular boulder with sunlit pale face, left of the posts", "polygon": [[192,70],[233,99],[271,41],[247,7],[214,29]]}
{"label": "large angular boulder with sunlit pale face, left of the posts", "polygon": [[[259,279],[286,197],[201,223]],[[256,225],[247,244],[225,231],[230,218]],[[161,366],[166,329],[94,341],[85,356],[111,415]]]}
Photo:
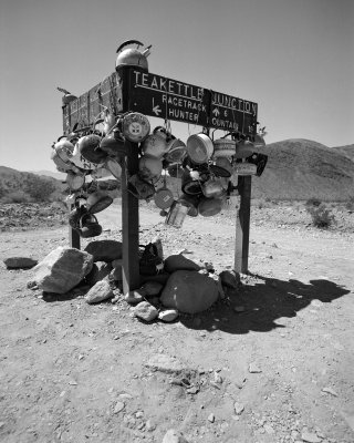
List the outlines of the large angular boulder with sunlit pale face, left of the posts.
{"label": "large angular boulder with sunlit pale face, left of the posts", "polygon": [[66,293],[91,271],[91,254],[58,247],[33,268],[32,281],[44,292]]}

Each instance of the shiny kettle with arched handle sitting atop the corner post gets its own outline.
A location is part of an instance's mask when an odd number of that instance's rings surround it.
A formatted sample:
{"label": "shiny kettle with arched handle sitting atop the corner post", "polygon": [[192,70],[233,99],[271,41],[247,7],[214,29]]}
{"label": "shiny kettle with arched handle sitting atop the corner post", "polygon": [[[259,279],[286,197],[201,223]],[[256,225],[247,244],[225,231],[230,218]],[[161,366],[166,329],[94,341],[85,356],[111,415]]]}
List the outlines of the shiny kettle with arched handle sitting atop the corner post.
{"label": "shiny kettle with arched handle sitting atop the corner post", "polygon": [[[126,48],[129,45],[137,45],[137,48]],[[127,40],[122,43],[116,50],[117,59],[115,62],[116,71],[122,68],[139,68],[143,71],[148,72],[147,56],[150,53],[152,45],[139,51],[139,47],[143,47],[138,40]]]}

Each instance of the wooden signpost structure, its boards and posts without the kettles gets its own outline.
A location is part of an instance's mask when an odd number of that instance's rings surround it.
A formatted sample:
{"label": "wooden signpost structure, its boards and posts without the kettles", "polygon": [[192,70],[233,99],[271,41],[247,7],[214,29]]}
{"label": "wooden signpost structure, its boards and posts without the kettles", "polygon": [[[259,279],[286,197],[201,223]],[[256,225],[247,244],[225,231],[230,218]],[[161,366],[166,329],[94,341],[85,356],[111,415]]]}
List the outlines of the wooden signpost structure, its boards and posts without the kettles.
{"label": "wooden signpost structure, its boards and posts without the kettles", "polygon": [[[253,140],[257,132],[257,103],[189,83],[167,79],[144,70],[125,66],[113,73],[73,102],[63,106],[64,134],[93,126],[105,109],[115,115],[139,112],[165,121],[178,121],[205,128],[240,133]],[[122,167],[123,288],[127,292],[139,285],[138,272],[138,199],[127,189],[127,179],[136,174],[138,145],[128,144],[127,161]],[[252,165],[253,166],[253,165]],[[254,168],[254,167],[253,167]],[[243,173],[247,173],[243,171]],[[253,171],[254,173],[254,171]],[[251,176],[239,176],[240,209],[236,220],[235,270],[247,272]],[[76,234],[76,233],[75,233]],[[80,248],[77,235],[71,246]]]}

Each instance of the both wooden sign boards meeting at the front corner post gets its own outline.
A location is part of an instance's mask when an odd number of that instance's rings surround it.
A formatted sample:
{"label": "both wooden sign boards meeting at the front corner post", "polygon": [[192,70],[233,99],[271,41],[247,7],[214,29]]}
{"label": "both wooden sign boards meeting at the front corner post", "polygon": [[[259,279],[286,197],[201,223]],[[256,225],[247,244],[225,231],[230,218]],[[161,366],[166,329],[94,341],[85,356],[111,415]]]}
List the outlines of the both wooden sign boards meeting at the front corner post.
{"label": "both wooden sign boards meeting at the front corner post", "polygon": [[[128,75],[129,111],[256,135],[257,103],[133,68]],[[115,114],[123,111],[122,87],[115,72],[63,107],[64,132],[69,133],[75,123],[79,127],[92,125],[105,107]]]}

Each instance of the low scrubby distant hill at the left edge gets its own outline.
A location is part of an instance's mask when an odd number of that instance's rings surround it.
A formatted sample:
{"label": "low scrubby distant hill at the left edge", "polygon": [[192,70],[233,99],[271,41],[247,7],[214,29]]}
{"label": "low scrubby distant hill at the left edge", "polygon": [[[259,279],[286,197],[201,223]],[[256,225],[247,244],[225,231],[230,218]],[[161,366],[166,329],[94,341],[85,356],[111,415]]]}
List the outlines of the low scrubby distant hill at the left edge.
{"label": "low scrubby distant hill at the left edge", "polygon": [[56,199],[66,185],[52,177],[0,166],[0,200],[8,203]]}

